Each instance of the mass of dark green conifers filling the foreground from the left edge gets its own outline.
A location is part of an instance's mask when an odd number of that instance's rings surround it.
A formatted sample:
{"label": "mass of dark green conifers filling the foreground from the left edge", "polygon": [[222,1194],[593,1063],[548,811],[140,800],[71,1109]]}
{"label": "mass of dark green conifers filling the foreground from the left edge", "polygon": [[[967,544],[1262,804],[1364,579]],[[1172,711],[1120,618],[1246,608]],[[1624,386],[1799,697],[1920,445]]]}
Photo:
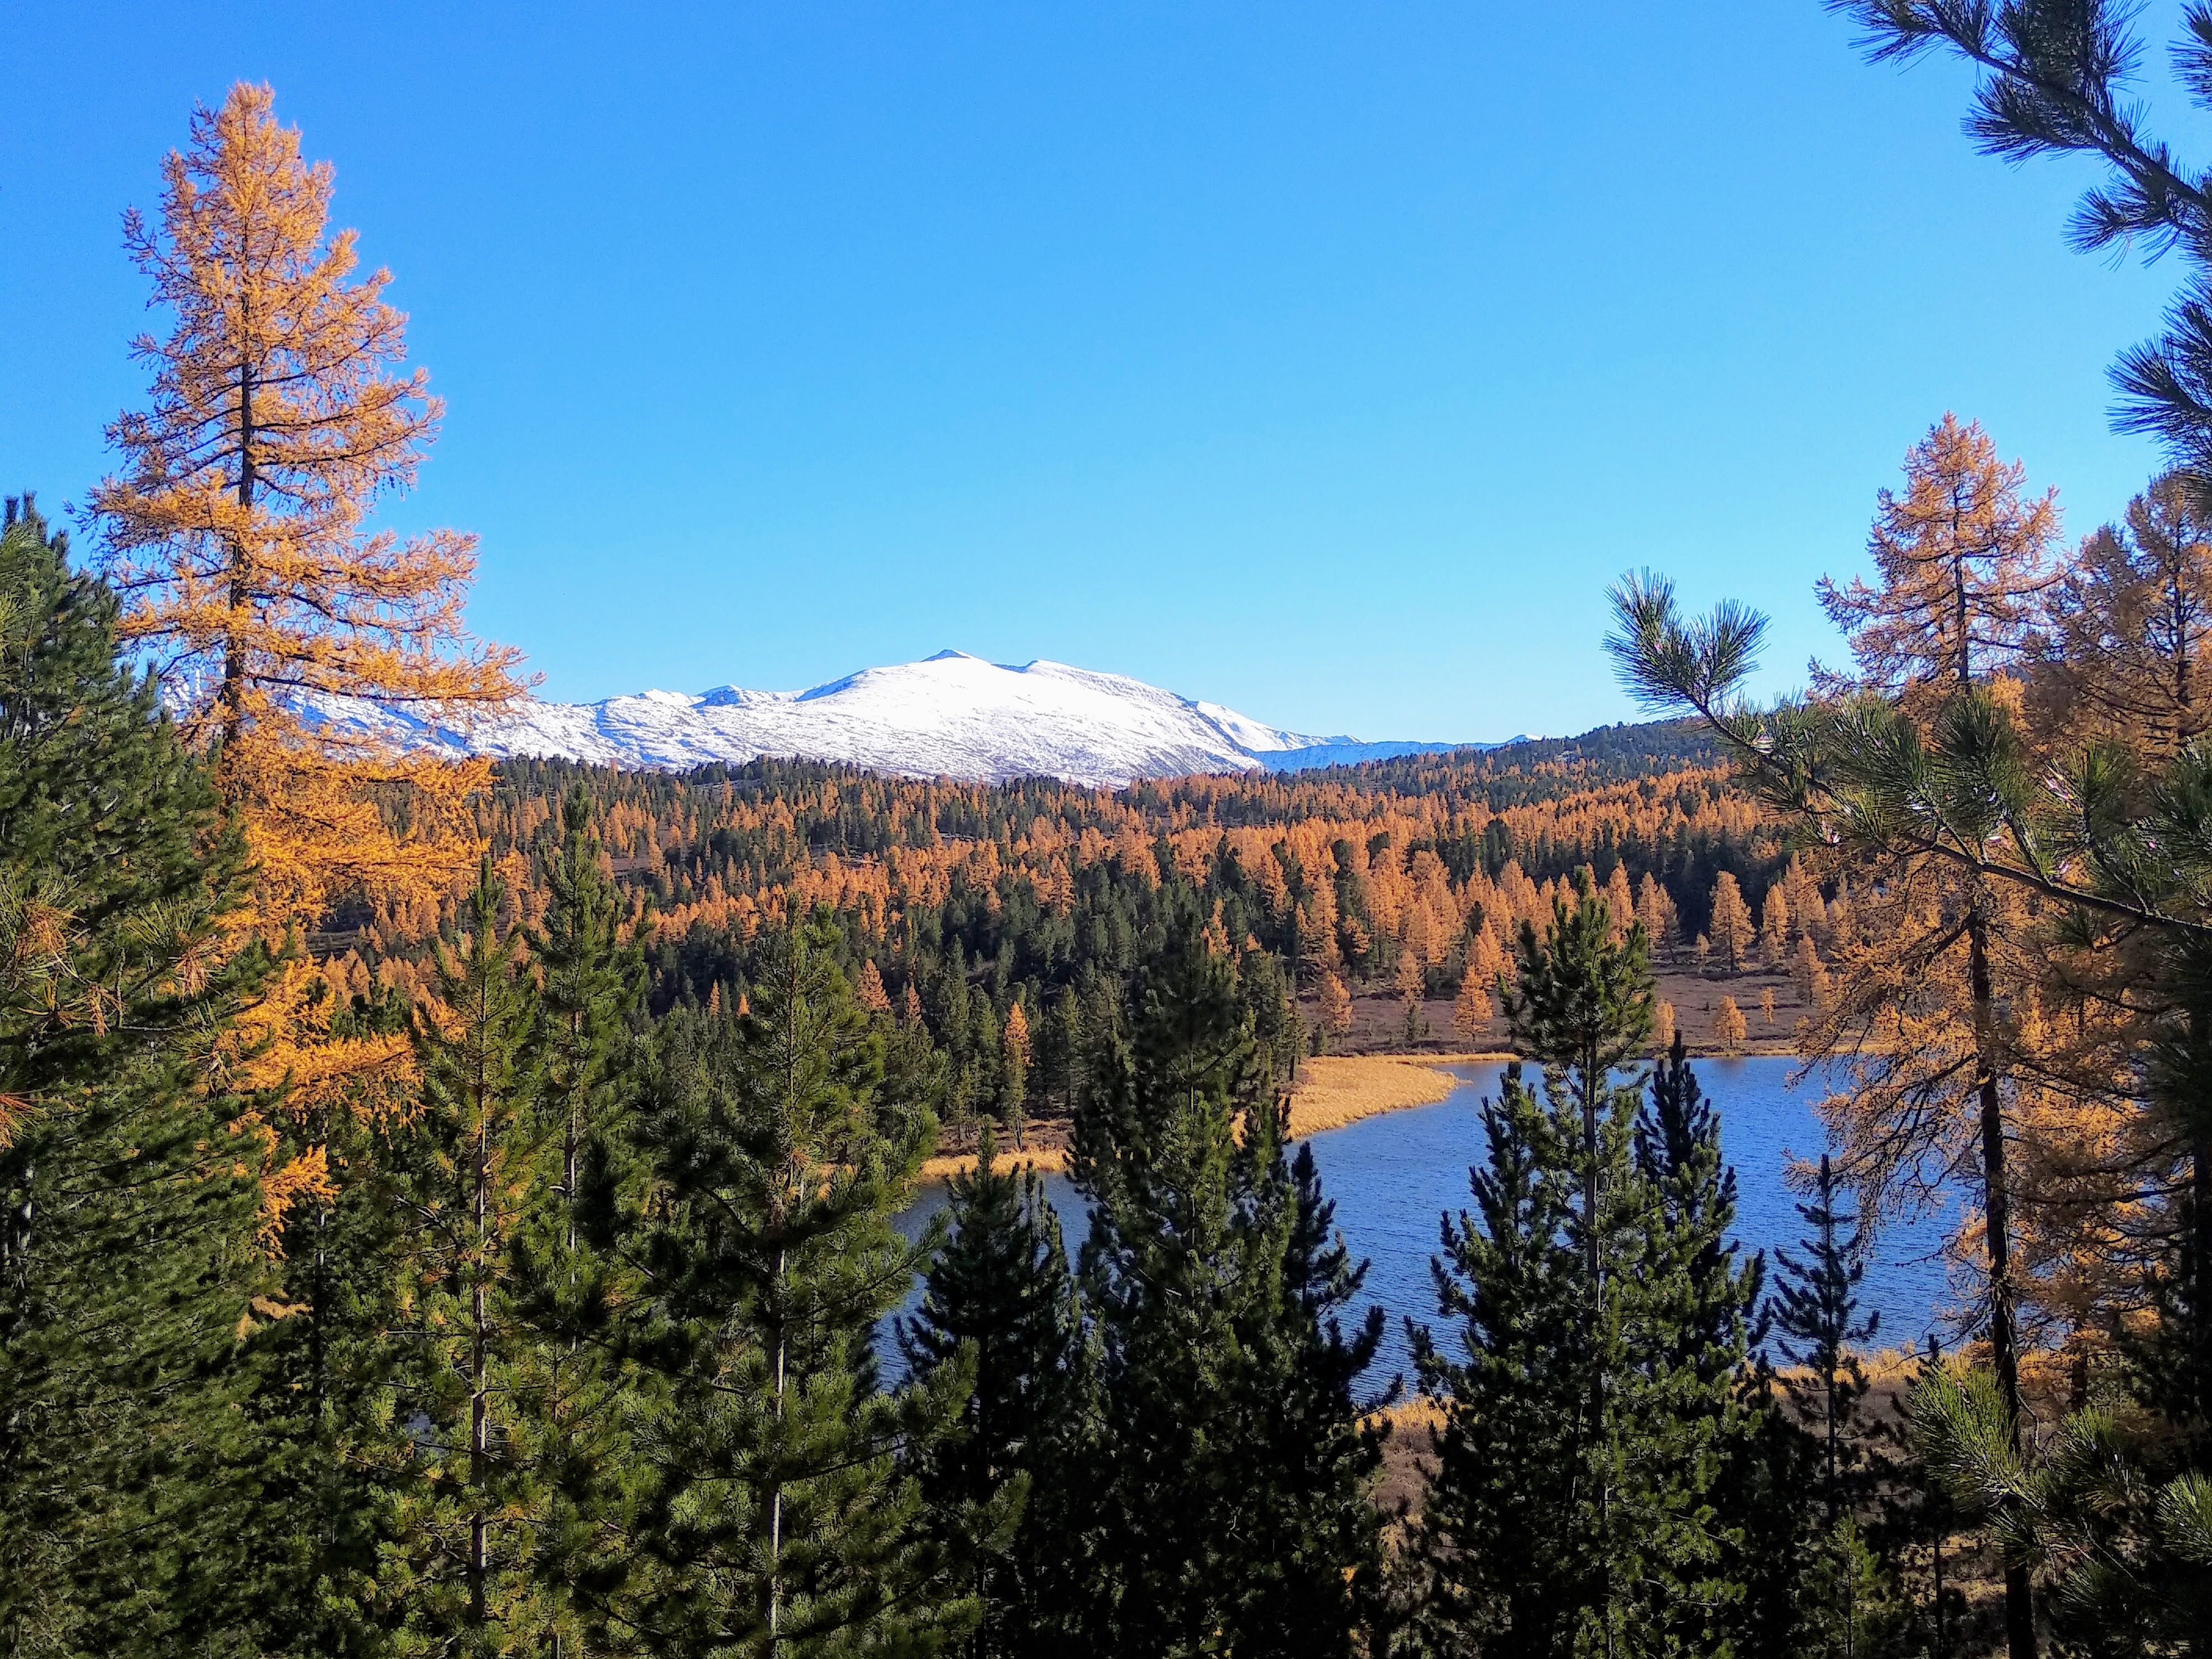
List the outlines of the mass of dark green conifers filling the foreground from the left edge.
{"label": "mass of dark green conifers filling the foreground from the left edge", "polygon": [[[1920,1617],[1918,1579],[1858,1610],[1825,1588],[1878,1573],[1845,1493],[1909,1482],[1847,1478],[1858,1440],[1814,1478],[1787,1387],[1827,1387],[1847,1422],[1843,1358],[1787,1385],[1752,1363],[1761,1270],[1728,1245],[1719,1126],[1679,1046],[1648,1091],[1621,1082],[1652,1037],[1648,942],[1586,876],[1515,938],[1509,1018],[1542,1093],[1515,1071],[1484,1108],[1489,1221],[1447,1239],[1418,1332],[1433,1473],[1394,1515],[1374,1482],[1400,1383],[1367,1376],[1380,1312],[1283,1135],[1281,980],[1223,945],[1194,876],[1155,867],[1157,938],[1124,975],[1091,964],[1075,1259],[989,1139],[909,1243],[894,1219],[958,1055],[869,993],[830,905],[763,925],[734,998],[655,1015],[650,905],[571,787],[526,889],[484,849],[418,991],[334,1006],[334,958],[226,933],[250,827],[115,659],[111,593],[20,504],[0,580],[0,1520],[31,1546],[0,1590],[11,1652],[1966,1628],[1955,1595]],[[292,1006],[312,1024],[263,1082]],[[1825,1239],[1783,1272],[1814,1347],[1851,1334],[1845,1263]],[[1754,1509],[1723,1520],[1721,1480]],[[1880,1548],[1944,1546],[1898,1513]]]}

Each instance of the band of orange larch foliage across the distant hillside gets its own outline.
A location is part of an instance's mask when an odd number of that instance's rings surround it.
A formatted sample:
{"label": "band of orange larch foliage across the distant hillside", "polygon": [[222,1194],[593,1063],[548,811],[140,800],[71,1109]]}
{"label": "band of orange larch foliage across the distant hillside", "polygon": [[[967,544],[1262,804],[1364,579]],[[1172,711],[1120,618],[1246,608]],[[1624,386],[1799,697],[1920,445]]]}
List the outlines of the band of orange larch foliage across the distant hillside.
{"label": "band of orange larch foliage across the distant hillside", "polygon": [[[1588,858],[1604,845],[1646,845],[1703,836],[1752,845],[1765,834],[1761,812],[1725,785],[1719,768],[1683,768],[1646,783],[1601,783],[1559,799],[1491,810],[1444,794],[1360,792],[1334,781],[1179,779],[1175,801],[1161,805],[1144,792],[1108,794],[1064,785],[1055,807],[1024,814],[1002,827],[936,834],[922,845],[898,838],[880,854],[843,854],[810,845],[792,801],[737,794],[730,785],[666,792],[648,776],[606,776],[602,832],[622,876],[668,872],[657,894],[653,933],[684,938],[695,927],[750,940],[763,927],[783,927],[816,905],[852,916],[863,938],[896,938],[902,918],[945,905],[956,891],[987,905],[1004,883],[1026,883],[1046,911],[1073,909],[1075,878],[1110,867],[1139,883],[1157,880],[1155,845],[1166,843],[1181,869],[1203,869],[1223,847],[1261,894],[1287,911],[1283,858],[1307,872],[1298,911],[1298,980],[1312,991],[1325,973],[1345,978],[1343,949],[1349,925],[1338,914],[1327,880],[1334,847],[1345,843],[1358,863],[1367,925],[1391,940],[1391,971],[1407,956],[1416,967],[1458,962],[1484,984],[1509,967],[1500,945],[1520,920],[1551,914],[1559,878],[1531,880],[1517,858],[1495,878],[1480,867],[1453,876],[1431,847],[1438,841],[1482,836],[1500,825],[1511,843],[1557,858]],[[823,812],[887,823],[975,823],[989,818],[989,785],[849,776],[823,783],[814,803]],[[535,796],[500,796],[480,816],[495,847],[526,845],[544,823]],[[703,854],[730,832],[754,852],[743,858]],[[675,858],[670,858],[675,854]],[[695,865],[692,860],[703,863]],[[1626,876],[1621,878],[1626,885]],[[1608,885],[1608,883],[1599,883]],[[1739,894],[1741,902],[1741,894]],[[1650,880],[1637,914],[1663,911],[1672,931],[1672,902]],[[425,940],[451,911],[436,905],[378,905],[376,931],[387,945]],[[1225,929],[1208,918],[1210,945],[1230,949]]]}

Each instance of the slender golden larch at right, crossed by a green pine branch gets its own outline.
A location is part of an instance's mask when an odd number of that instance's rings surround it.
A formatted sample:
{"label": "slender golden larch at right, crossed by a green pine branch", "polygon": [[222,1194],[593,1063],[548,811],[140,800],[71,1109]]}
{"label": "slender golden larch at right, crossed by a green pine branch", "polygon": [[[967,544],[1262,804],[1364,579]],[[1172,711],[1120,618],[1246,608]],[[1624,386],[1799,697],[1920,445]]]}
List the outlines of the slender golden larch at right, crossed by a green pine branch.
{"label": "slender golden larch at right, crossed by a green pine branch", "polygon": [[[1882,491],[1869,551],[1878,586],[1820,584],[1843,628],[1854,679],[1825,675],[1834,695],[1874,692],[1907,726],[1936,734],[1958,710],[2008,719],[2020,706],[2042,599],[2057,582],[2051,549],[2057,495],[2028,500],[2024,469],[1997,460],[1980,425],[1944,416],[1905,460],[1905,491]],[[1955,827],[1969,836],[1964,821]],[[2006,830],[1971,830],[1984,856]],[[2022,1124],[2039,1115],[2037,1068],[2020,1066],[2006,1004],[2039,973],[2035,918],[2017,891],[1995,891],[1971,867],[1929,854],[1869,854],[1829,911],[1836,984],[1798,1029],[1798,1053],[1845,1079],[1823,1102],[1845,1146],[1843,1166],[1869,1201],[1909,1206],[1924,1170],[1978,1188],[1980,1217],[1960,1232],[1986,1267],[1991,1363],[2017,1433],[2020,1301],[2028,1283],[2013,1259]],[[2026,1566],[2006,1566],[2006,1606],[2026,1626]]]}

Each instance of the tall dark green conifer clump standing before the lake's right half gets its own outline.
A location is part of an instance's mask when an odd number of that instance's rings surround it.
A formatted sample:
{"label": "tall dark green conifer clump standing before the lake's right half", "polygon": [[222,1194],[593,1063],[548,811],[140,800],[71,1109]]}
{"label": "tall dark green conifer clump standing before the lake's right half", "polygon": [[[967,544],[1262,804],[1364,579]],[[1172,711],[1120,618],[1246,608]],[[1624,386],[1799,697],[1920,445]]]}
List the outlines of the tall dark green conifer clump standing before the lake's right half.
{"label": "tall dark green conifer clump standing before the lake's right half", "polygon": [[1639,1088],[1617,1073],[1650,1033],[1650,967],[1586,878],[1544,938],[1524,922],[1517,958],[1506,1015],[1544,1102],[1506,1073],[1471,1170],[1480,1221],[1444,1219],[1438,1301],[1467,1358],[1413,1332],[1447,1405],[1418,1540],[1429,1635],[1486,1655],[1728,1652],[1739,1586],[1714,1498],[1745,1285],[1717,1130],[1670,1066],[1637,1135]]}

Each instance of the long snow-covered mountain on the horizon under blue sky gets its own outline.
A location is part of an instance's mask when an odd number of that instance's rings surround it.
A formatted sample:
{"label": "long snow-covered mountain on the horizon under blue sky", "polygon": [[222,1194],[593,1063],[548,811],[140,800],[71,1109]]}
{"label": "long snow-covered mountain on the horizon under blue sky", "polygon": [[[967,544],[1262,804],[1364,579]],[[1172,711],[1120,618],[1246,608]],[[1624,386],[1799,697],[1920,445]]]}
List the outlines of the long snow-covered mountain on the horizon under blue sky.
{"label": "long snow-covered mountain on the horizon under blue sky", "polygon": [[1458,748],[1301,737],[1126,675],[1057,661],[1004,668],[960,650],[863,668],[803,692],[723,686],[697,697],[648,690],[602,703],[531,699],[460,732],[345,699],[321,699],[314,712],[332,726],[376,730],[409,745],[493,757],[681,770],[772,754],[978,783],[1055,776],[1124,785]]}

